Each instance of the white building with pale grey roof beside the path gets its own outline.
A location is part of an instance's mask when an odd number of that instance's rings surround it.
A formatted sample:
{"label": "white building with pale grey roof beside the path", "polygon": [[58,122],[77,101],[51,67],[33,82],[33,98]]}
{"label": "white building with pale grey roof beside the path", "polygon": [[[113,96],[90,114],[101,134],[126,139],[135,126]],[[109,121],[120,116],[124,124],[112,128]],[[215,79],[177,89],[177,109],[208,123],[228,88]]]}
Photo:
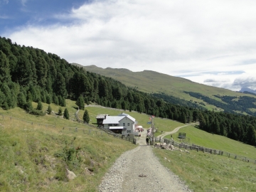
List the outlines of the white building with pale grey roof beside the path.
{"label": "white building with pale grey roof beside the path", "polygon": [[102,124],[105,129],[110,129],[118,134],[139,134],[139,132],[135,132],[135,124],[137,122],[129,114],[122,113],[117,116],[105,116]]}

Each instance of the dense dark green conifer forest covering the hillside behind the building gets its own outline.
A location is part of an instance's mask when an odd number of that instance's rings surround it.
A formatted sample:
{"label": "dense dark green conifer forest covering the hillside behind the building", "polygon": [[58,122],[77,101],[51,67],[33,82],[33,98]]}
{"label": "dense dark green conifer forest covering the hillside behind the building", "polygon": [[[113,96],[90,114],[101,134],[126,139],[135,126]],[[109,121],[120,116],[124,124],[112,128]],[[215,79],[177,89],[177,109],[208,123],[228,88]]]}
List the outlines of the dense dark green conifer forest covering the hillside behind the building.
{"label": "dense dark green conifer forest covering the hillside behind the building", "polygon": [[194,108],[197,105],[189,102],[175,105],[174,98],[140,92],[112,78],[70,65],[58,55],[19,46],[7,38],[0,38],[0,66],[0,105],[4,110],[18,106],[31,114],[43,115],[40,107],[33,109],[32,101],[65,106],[66,98],[82,98],[86,103],[135,110],[183,123],[199,120],[200,128],[207,132],[256,144],[256,117],[210,112]]}

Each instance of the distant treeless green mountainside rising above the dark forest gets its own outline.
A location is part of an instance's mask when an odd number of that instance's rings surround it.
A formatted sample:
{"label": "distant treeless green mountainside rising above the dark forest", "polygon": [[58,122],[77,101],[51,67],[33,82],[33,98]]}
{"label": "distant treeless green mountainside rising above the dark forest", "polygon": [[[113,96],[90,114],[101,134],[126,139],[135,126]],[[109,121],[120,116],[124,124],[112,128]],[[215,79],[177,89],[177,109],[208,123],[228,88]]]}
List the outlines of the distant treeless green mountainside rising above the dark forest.
{"label": "distant treeless green mountainside rising above the dark forest", "polygon": [[[74,64],[74,63],[73,63]],[[98,68],[95,65],[82,66],[85,70],[92,73],[98,73],[100,75],[105,75],[115,80],[119,80],[129,87],[138,87],[138,90],[142,92],[164,92],[167,95],[172,95],[184,100],[193,100],[197,102],[203,102],[203,100],[196,99],[191,97],[188,94],[185,94],[183,91],[188,92],[199,92],[203,95],[206,95],[212,99],[219,100],[213,95],[229,95],[229,96],[243,96],[240,92],[233,92],[231,90],[226,90],[223,88],[212,87],[208,85],[203,85],[197,82],[192,82],[185,78],[178,78],[171,75],[165,75],[163,73],[157,73],[150,70],[144,70],[142,72],[132,72],[127,69],[114,69],[114,68]],[[249,96],[249,95],[247,95]],[[255,97],[250,95],[250,97]],[[206,108],[208,110],[215,109],[215,106],[208,105],[206,102]]]}

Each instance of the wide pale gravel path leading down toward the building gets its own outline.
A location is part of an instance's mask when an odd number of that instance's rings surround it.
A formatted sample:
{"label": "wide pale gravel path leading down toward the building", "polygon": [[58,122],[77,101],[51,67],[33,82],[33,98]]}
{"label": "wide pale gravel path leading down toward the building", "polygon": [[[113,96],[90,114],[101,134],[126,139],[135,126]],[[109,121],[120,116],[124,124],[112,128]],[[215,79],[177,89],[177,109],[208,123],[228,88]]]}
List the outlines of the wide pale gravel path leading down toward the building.
{"label": "wide pale gravel path leading down toward the building", "polygon": [[146,132],[143,132],[139,146],[126,151],[115,161],[103,178],[99,191],[190,191],[178,176],[159,163],[145,138]]}

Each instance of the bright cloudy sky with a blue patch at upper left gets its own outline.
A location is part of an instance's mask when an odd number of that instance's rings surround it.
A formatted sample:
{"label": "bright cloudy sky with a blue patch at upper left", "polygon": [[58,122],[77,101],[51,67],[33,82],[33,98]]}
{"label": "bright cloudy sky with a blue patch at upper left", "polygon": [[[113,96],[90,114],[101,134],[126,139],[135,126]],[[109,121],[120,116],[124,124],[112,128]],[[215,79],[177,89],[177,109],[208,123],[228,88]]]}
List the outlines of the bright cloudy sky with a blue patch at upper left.
{"label": "bright cloudy sky with a blue patch at upper left", "polygon": [[0,36],[69,63],[256,90],[255,0],[0,0]]}

